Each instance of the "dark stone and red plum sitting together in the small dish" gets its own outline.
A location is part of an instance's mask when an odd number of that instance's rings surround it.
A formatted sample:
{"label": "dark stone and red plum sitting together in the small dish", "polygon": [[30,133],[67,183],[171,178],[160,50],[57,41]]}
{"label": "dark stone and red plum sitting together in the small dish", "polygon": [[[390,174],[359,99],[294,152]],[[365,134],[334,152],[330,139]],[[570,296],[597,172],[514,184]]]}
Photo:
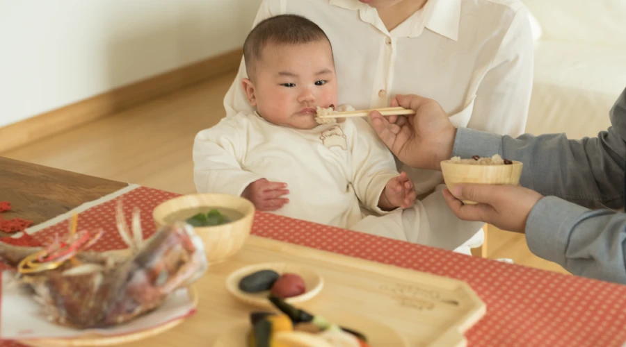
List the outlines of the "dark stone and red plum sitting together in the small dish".
{"label": "dark stone and red plum sitting together in the small dish", "polygon": [[291,298],[303,294],[307,289],[302,277],[296,273],[283,273],[266,269],[259,270],[239,280],[239,289],[246,293],[270,291],[280,298]]}

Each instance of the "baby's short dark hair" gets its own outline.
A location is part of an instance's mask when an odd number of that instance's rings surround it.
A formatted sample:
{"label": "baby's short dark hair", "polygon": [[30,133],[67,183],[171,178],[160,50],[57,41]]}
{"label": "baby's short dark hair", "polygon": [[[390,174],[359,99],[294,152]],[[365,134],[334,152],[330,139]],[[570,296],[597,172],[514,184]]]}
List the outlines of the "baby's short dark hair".
{"label": "baby's short dark hair", "polygon": [[257,60],[268,43],[307,44],[328,41],[326,33],[309,19],[299,15],[278,15],[264,19],[250,31],[243,42],[243,59],[248,78],[252,78]]}

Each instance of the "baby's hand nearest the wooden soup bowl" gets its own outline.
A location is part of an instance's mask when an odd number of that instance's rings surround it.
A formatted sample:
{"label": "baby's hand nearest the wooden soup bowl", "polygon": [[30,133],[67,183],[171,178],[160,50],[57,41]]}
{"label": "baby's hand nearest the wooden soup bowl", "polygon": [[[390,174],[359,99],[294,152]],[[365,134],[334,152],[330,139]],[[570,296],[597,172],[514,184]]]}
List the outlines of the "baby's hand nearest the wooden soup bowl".
{"label": "baby's hand nearest the wooden soup bowl", "polygon": [[275,211],[289,203],[288,198],[281,198],[289,194],[289,189],[285,188],[287,188],[287,183],[270,182],[261,178],[243,189],[241,196],[252,201],[259,211]]}

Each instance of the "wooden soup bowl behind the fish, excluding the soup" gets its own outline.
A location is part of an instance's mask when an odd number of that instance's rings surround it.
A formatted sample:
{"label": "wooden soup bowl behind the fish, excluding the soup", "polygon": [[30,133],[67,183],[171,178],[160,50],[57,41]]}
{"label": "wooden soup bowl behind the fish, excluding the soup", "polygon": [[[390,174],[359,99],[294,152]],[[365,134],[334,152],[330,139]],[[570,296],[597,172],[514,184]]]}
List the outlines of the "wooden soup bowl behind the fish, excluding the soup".
{"label": "wooden soup bowl behind the fish, excluding the soup", "polygon": [[209,264],[223,262],[239,252],[252,230],[255,205],[245,198],[227,194],[190,194],[165,201],[154,208],[157,227],[186,220],[198,213],[218,209],[233,221],[219,226],[193,227],[204,242]]}

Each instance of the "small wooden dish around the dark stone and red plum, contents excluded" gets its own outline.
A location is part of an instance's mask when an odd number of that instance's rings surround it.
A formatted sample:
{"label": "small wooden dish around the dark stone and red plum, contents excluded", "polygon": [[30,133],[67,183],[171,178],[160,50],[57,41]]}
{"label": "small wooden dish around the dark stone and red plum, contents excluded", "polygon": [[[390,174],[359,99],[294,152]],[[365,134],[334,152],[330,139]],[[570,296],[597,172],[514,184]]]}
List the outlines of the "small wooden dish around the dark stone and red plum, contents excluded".
{"label": "small wooden dish around the dark stone and red plum, contents excluded", "polygon": [[280,262],[254,264],[234,271],[226,279],[227,291],[242,303],[256,307],[273,308],[274,305],[268,299],[269,291],[246,293],[245,291],[241,291],[241,289],[239,289],[239,281],[242,278],[250,275],[250,273],[255,273],[261,270],[273,270],[278,272],[280,275],[283,273],[296,273],[296,275],[300,276],[304,280],[306,291],[303,294],[284,299],[285,302],[290,304],[303,303],[304,301],[310,300],[319,294],[324,286],[323,278],[315,271],[298,264]]}

